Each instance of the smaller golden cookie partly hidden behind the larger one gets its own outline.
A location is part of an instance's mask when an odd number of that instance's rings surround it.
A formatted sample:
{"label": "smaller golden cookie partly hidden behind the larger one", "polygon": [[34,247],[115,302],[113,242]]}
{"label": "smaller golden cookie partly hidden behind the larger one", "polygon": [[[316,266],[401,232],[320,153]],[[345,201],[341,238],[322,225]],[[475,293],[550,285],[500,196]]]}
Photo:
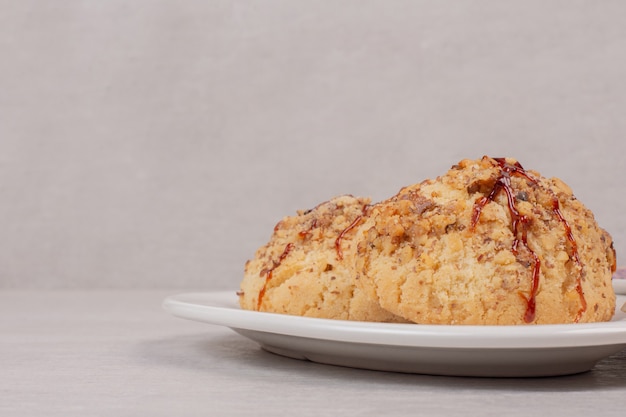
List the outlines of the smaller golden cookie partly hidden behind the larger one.
{"label": "smaller golden cookie partly hidden behind the larger one", "polygon": [[239,303],[247,310],[399,322],[355,285],[353,237],[369,199],[339,196],[285,217],[246,263]]}

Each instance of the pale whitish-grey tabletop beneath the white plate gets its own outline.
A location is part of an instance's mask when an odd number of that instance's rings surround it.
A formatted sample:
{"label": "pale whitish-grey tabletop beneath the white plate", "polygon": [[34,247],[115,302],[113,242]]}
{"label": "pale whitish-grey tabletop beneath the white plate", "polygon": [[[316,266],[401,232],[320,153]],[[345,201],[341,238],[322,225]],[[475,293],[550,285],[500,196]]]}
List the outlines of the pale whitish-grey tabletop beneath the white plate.
{"label": "pale whitish-grey tabletop beneath the white plate", "polygon": [[626,413],[626,350],[579,375],[491,379],[280,357],[161,309],[172,291],[0,293],[0,415]]}

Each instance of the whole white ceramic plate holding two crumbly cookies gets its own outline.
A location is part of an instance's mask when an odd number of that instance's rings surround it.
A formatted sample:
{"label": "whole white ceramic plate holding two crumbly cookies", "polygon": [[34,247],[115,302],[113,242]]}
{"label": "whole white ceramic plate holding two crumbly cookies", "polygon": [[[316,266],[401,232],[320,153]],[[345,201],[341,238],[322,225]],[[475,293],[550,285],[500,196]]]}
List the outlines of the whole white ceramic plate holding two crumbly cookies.
{"label": "whole white ceramic plate holding two crumbly cookies", "polygon": [[[607,323],[442,326],[366,323],[239,308],[234,291],[168,297],[175,316],[232,328],[267,351],[355,368],[457,376],[530,377],[590,370],[626,348],[626,296]],[[626,309],[625,309],[626,310]]]}

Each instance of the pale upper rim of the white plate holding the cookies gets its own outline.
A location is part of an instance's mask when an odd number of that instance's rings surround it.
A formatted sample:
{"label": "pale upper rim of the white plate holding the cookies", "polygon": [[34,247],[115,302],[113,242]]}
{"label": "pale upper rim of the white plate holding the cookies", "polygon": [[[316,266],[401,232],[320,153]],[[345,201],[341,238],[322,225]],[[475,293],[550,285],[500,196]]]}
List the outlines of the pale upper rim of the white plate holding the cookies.
{"label": "pale upper rim of the white plate holding the cookies", "polygon": [[441,349],[546,349],[626,346],[626,296],[616,294],[618,320],[541,325],[429,325],[375,323],[243,310],[235,291],[179,293],[166,297],[170,314],[207,324],[345,343]]}

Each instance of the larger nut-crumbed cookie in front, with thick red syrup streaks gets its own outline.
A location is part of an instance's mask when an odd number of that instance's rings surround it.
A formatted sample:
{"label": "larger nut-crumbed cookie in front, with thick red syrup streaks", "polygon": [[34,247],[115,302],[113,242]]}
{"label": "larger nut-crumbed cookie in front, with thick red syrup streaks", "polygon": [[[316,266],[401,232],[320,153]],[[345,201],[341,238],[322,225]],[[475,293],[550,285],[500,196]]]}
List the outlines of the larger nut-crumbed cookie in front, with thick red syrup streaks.
{"label": "larger nut-crumbed cookie in front, with thick red syrup streaks", "polygon": [[428,324],[575,323],[615,311],[610,235],[558,178],[515,160],[463,160],[374,205],[357,283]]}

